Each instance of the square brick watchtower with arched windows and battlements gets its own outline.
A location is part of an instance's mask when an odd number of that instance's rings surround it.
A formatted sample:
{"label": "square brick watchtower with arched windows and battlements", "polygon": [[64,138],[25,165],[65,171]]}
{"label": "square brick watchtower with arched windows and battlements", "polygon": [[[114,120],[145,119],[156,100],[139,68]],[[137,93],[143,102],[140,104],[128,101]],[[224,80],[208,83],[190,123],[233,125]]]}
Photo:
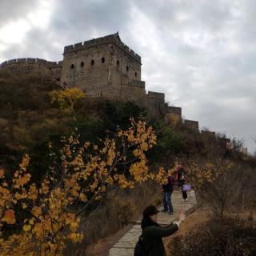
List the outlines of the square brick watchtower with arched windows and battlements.
{"label": "square brick watchtower with arched windows and battlements", "polygon": [[141,58],[118,34],[66,46],[61,82],[111,100],[140,102],[146,95]]}

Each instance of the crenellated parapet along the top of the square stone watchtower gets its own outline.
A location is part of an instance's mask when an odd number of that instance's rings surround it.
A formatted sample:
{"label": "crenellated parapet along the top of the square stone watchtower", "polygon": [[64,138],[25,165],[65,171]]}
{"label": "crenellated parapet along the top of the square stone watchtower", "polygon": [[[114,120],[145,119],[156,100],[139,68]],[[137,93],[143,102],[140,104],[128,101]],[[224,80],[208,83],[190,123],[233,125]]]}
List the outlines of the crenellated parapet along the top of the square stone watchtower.
{"label": "crenellated parapet along the top of the square stone watchtower", "polygon": [[109,34],[102,38],[94,38],[85,42],[78,42],[74,45],[65,46],[64,47],[64,55],[69,54],[71,52],[75,52],[78,50],[85,50],[91,47],[102,46],[106,44],[114,44],[118,46],[121,50],[125,51],[126,54],[129,54],[130,57],[134,58],[139,63],[142,62],[141,57],[134,53],[134,50],[131,50],[128,46],[126,46],[120,39],[119,34]]}

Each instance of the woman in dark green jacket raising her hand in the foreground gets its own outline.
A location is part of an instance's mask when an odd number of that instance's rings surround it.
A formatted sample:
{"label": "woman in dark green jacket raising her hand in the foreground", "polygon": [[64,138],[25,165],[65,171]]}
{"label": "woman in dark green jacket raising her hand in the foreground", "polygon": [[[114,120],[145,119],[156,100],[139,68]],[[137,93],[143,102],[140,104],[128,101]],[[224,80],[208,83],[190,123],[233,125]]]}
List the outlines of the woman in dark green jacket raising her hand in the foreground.
{"label": "woman in dark green jacket raising her hand in the foreground", "polygon": [[182,221],[186,218],[183,211],[178,216],[178,221],[169,226],[159,226],[158,210],[155,206],[147,206],[143,211],[142,241],[148,256],[166,256],[162,238],[174,234]]}

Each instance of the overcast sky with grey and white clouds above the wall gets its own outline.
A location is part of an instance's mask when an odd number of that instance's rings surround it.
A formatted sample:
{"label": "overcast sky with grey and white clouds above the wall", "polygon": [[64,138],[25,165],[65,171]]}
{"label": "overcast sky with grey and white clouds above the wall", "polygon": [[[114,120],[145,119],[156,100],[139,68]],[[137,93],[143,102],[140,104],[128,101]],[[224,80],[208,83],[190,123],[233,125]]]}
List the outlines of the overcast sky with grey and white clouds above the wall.
{"label": "overcast sky with grey and white clouds above the wall", "polygon": [[142,56],[146,90],[254,153],[255,14],[255,0],[1,1],[0,62],[62,60],[64,46],[118,31]]}

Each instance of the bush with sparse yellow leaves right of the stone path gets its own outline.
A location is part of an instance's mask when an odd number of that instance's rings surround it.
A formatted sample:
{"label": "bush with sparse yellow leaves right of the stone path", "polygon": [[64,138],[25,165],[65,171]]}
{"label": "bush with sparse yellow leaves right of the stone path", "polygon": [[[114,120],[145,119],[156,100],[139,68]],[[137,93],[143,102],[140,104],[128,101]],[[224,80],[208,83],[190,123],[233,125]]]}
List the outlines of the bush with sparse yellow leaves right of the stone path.
{"label": "bush with sparse yellow leaves right of the stone path", "polygon": [[212,159],[206,162],[190,162],[187,181],[207,202],[214,216],[222,218],[232,205],[232,196],[238,193],[235,181],[240,173],[239,166],[225,159]]}

